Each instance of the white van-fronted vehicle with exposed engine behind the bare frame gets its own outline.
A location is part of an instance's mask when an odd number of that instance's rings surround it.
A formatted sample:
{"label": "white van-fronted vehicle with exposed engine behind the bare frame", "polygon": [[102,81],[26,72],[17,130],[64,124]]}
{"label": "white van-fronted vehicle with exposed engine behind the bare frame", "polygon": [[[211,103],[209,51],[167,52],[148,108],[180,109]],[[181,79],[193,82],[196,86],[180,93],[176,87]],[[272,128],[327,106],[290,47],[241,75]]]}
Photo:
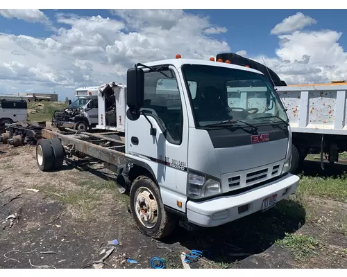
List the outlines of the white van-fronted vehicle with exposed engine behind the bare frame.
{"label": "white van-fronted vehicle with exposed engine behind the bare frame", "polygon": [[99,87],[80,87],[76,89],[75,100],[62,111],[54,111],[52,125],[58,129],[72,127],[85,131],[98,123]]}

